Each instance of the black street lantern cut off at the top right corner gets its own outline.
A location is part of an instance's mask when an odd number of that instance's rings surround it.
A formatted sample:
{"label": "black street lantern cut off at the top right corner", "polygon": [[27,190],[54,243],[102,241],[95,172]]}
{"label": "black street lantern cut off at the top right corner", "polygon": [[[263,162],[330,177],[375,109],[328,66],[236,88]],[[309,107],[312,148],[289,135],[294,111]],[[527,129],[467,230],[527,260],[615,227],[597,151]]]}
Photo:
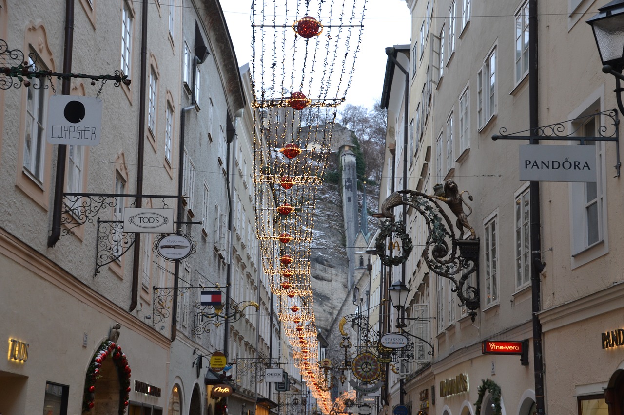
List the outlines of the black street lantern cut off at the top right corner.
{"label": "black street lantern cut off at the top right corner", "polygon": [[598,14],[588,19],[602,60],[602,72],[615,77],[618,108],[624,113],[620,80],[624,80],[624,0],[614,0],[598,8]]}

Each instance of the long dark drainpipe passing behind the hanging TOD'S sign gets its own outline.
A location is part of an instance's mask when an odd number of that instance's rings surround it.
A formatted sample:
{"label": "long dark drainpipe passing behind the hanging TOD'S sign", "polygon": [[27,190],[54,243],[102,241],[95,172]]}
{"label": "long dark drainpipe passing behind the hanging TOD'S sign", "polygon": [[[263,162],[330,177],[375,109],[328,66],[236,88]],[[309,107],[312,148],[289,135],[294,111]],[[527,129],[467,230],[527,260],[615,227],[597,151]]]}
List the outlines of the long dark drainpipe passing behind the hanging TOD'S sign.
{"label": "long dark drainpipe passing behind the hanging TOD'S sign", "polygon": [[[143,166],[145,163],[145,95],[147,95],[147,0],[143,0],[141,12],[141,74],[139,85],[139,140],[137,148],[137,204],[143,206]],[[132,261],[132,292],[130,297],[129,312],[137,308],[139,297],[141,259],[141,234],[137,232],[134,237],[134,252]]]}

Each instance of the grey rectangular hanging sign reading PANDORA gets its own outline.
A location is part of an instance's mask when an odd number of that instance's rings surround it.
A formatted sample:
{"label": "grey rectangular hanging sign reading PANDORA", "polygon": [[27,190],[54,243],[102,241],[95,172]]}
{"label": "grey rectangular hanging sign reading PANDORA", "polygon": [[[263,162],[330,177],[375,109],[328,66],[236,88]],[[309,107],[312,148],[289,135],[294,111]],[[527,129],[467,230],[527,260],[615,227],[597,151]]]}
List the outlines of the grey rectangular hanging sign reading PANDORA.
{"label": "grey rectangular hanging sign reading PANDORA", "polygon": [[596,181],[596,147],[522,145],[520,181]]}

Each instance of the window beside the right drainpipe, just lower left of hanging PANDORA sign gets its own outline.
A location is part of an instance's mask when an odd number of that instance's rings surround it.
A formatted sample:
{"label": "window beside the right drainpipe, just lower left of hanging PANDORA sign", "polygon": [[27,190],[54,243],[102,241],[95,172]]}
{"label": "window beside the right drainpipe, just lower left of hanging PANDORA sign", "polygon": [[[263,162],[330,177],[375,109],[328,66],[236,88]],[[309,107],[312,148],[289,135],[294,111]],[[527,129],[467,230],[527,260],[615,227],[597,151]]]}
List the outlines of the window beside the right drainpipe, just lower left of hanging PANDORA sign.
{"label": "window beside the right drainpipe, just lower left of hanging PANDORA sign", "polygon": [[524,188],[515,197],[515,287],[530,280],[530,196]]}

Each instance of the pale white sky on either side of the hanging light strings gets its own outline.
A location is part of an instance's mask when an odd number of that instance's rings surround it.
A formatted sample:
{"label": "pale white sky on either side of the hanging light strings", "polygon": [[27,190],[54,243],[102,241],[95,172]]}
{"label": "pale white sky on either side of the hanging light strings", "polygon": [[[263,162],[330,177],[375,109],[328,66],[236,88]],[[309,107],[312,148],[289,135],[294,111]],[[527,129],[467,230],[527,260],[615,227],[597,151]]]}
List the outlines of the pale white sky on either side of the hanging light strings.
{"label": "pale white sky on either side of the hanging light strings", "polygon": [[[236,59],[239,65],[244,65],[251,60],[251,0],[221,0],[221,7],[236,50]],[[381,99],[387,60],[385,49],[397,44],[409,44],[409,23],[409,9],[404,0],[366,1],[361,50],[345,103],[373,108],[374,103]]]}

